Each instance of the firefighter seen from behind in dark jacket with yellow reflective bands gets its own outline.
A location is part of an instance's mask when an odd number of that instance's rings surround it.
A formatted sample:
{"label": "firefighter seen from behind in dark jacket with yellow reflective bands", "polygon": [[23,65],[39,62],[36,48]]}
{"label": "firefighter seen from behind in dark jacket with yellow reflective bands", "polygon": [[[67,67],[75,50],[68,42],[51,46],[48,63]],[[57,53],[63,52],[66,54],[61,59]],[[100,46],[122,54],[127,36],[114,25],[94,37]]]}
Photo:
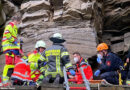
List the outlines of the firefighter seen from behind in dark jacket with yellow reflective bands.
{"label": "firefighter seen from behind in dark jacket with yellow reflective bands", "polygon": [[47,60],[47,70],[45,71],[43,83],[63,83],[63,66],[65,66],[72,75],[75,75],[75,71],[70,63],[69,53],[62,45],[62,43],[65,42],[62,35],[55,33],[50,37],[50,40],[53,42],[53,45],[45,50],[43,53],[44,58],[41,58],[42,60]]}

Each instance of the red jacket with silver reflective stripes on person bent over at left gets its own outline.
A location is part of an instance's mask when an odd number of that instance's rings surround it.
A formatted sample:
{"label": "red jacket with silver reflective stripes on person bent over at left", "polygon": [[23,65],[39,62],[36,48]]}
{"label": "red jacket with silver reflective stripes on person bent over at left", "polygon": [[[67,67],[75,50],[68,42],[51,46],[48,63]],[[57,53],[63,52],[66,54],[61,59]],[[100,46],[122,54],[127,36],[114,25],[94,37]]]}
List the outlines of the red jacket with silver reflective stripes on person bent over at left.
{"label": "red jacket with silver reflective stripes on person bent over at left", "polygon": [[30,66],[25,59],[19,59],[18,63],[14,67],[14,71],[11,78],[18,79],[21,81],[32,81]]}

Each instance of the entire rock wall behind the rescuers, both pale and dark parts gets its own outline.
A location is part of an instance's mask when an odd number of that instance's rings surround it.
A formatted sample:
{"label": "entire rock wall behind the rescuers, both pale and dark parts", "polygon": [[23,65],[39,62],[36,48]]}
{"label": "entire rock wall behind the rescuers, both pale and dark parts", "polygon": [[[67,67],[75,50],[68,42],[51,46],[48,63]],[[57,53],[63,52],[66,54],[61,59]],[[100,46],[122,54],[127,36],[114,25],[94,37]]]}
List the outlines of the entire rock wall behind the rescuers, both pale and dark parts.
{"label": "entire rock wall behind the rescuers, both pale and dark parts", "polygon": [[49,47],[48,38],[55,32],[66,39],[71,59],[72,53],[79,51],[93,66],[99,42],[108,43],[120,56],[128,51],[130,0],[1,0],[1,37],[4,25],[16,12],[22,15],[19,37],[26,54],[40,39]]}

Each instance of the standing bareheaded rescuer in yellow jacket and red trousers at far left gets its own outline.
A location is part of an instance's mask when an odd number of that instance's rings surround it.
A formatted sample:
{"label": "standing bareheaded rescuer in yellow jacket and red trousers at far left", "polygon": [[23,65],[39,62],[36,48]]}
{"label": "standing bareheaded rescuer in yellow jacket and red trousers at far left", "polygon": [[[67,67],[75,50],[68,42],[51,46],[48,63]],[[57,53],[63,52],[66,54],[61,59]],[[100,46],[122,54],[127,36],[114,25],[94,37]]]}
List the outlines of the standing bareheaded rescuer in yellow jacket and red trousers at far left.
{"label": "standing bareheaded rescuer in yellow jacket and red trousers at far left", "polygon": [[20,55],[19,49],[20,45],[18,42],[18,28],[17,25],[20,24],[21,17],[14,16],[12,22],[10,22],[4,29],[2,38],[2,49],[5,54],[5,66],[3,69],[3,83],[6,84],[13,72],[14,65],[16,63],[17,55]]}

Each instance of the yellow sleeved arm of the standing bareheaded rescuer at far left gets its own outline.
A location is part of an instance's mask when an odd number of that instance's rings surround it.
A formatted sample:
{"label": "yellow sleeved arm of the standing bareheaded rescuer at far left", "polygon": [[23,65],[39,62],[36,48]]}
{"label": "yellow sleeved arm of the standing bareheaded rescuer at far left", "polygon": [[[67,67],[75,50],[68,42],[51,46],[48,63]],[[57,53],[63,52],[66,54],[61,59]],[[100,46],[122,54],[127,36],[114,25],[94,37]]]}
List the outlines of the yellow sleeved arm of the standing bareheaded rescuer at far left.
{"label": "yellow sleeved arm of the standing bareheaded rescuer at far left", "polygon": [[12,43],[14,43],[16,41],[16,38],[14,38],[11,35],[11,30],[13,30],[11,25],[7,25],[4,31],[4,36]]}

